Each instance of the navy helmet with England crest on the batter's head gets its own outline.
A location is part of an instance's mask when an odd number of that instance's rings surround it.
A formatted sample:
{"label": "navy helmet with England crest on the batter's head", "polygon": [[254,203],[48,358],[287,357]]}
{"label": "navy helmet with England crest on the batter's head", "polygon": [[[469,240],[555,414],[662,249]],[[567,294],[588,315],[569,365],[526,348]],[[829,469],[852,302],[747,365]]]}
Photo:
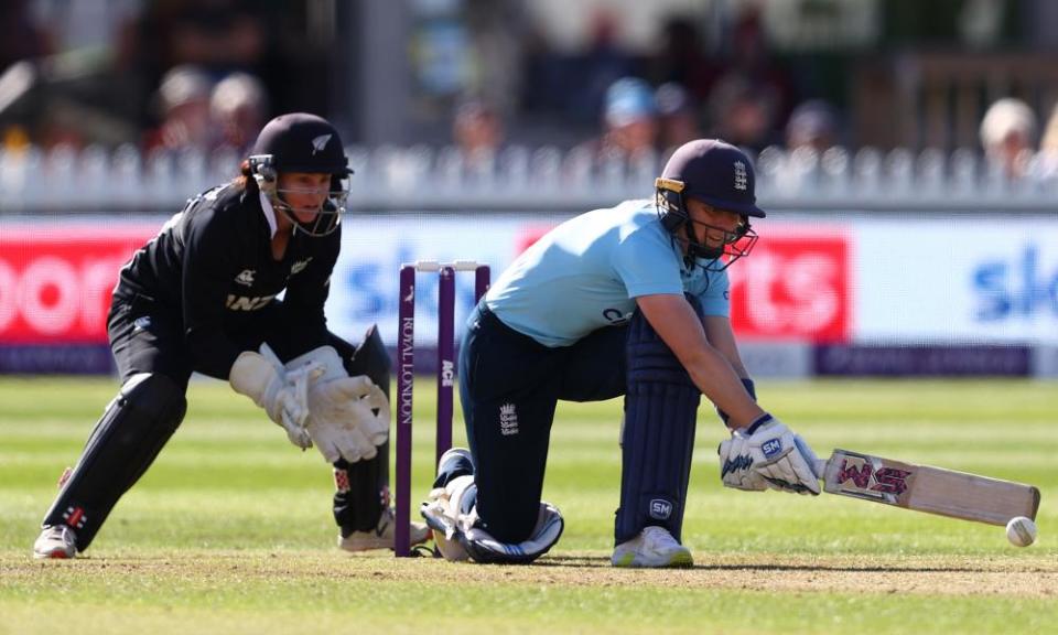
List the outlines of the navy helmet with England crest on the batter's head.
{"label": "navy helmet with England crest on the batter's head", "polygon": [[[711,260],[710,269],[723,270],[753,249],[757,234],[749,226],[749,217],[764,218],[765,213],[757,207],[754,194],[753,163],[738,148],[716,139],[689,141],[677,148],[654,184],[661,225],[674,238],[687,243],[689,263],[697,259]],[[742,222],[734,232],[698,223],[688,212],[689,198],[734,212]],[[722,232],[721,244],[699,243],[694,224],[708,227],[712,235]]]}

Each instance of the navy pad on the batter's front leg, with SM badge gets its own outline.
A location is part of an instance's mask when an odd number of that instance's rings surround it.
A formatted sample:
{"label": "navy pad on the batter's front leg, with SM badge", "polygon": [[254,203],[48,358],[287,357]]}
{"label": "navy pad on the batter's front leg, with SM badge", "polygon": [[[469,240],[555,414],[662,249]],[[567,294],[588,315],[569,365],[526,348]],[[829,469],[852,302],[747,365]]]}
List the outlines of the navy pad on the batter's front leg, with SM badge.
{"label": "navy pad on the batter's front leg, with SM badge", "polygon": [[616,543],[648,525],[680,540],[701,391],[640,311],[628,326],[627,355]]}

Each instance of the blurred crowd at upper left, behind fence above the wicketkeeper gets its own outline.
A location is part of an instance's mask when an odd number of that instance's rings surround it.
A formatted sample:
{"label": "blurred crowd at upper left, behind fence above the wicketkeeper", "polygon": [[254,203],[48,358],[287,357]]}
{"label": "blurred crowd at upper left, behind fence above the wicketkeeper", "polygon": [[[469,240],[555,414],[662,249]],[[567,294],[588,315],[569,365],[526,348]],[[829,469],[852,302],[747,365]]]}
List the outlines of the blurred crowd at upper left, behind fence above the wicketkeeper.
{"label": "blurred crowd at upper left, behind fence above the wicketkeeper", "polygon": [[302,13],[276,0],[6,0],[3,144],[245,148],[276,110],[328,107],[327,52],[296,35]]}

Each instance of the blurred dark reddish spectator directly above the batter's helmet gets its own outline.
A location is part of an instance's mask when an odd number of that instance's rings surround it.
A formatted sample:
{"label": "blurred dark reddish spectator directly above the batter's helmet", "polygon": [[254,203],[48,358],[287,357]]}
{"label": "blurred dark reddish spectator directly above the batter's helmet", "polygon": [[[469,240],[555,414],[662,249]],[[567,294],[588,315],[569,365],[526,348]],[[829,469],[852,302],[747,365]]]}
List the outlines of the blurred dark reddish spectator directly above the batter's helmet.
{"label": "blurred dark reddish spectator directly above the batter's helmet", "polygon": [[709,100],[710,136],[759,152],[779,142],[776,109],[776,97],[766,87],[728,75]]}

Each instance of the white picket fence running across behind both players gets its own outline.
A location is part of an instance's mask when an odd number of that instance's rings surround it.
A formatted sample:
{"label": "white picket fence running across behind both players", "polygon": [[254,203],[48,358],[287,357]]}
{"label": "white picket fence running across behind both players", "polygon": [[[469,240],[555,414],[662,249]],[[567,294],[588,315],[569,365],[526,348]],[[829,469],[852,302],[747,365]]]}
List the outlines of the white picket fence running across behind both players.
{"label": "white picket fence running across behind both players", "polygon": [[[364,212],[576,211],[650,194],[665,157],[596,157],[583,149],[510,147],[468,160],[453,148],[349,148],[349,205]],[[1027,154],[1012,180],[972,150],[832,148],[756,159],[757,195],[777,209],[1058,211],[1058,157]],[[235,176],[239,154],[36,148],[0,151],[0,212],[171,213]]]}

